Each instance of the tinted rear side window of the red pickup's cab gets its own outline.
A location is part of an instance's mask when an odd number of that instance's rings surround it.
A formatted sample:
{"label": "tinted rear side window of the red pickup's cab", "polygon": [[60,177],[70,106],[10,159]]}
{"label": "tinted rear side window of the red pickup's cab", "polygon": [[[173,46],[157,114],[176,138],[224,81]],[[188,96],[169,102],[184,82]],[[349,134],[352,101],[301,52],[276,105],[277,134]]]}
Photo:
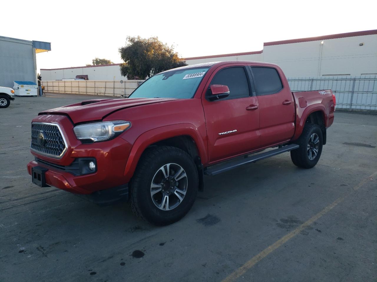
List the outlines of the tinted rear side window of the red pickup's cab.
{"label": "tinted rear side window of the red pickup's cab", "polygon": [[275,68],[251,67],[257,95],[274,94],[283,89],[283,84]]}

